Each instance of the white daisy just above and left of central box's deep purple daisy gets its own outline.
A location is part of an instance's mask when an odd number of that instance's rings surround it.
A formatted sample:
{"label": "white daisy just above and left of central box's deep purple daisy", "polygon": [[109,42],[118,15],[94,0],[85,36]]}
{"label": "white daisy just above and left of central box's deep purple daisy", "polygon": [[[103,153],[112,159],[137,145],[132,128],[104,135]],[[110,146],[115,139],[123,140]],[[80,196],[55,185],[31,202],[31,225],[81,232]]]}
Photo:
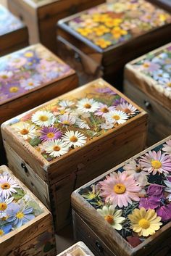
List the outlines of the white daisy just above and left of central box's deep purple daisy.
{"label": "white daisy just above and left of central box's deep purple daisy", "polygon": [[43,127],[53,125],[56,117],[49,111],[39,110],[32,115],[31,120],[33,123],[36,123],[36,125]]}

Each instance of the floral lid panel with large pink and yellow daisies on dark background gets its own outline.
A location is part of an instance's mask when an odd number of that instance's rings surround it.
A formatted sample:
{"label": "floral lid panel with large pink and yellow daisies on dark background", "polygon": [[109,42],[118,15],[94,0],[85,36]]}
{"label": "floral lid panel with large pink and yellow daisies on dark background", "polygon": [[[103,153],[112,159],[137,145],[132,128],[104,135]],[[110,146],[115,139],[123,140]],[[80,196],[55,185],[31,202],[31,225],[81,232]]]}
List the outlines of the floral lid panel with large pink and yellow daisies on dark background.
{"label": "floral lid panel with large pink and yellow daisies on dark background", "polygon": [[171,220],[171,140],[79,194],[133,247]]}

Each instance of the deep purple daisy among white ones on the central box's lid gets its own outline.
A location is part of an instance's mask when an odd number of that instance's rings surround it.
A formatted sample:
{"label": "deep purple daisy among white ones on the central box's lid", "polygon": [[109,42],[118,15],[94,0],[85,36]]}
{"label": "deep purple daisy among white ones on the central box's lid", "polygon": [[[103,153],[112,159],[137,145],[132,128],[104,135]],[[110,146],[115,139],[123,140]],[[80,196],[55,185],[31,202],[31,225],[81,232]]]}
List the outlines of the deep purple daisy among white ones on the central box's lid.
{"label": "deep purple daisy among white ones on the central box's lid", "polygon": [[43,127],[41,129],[41,136],[40,139],[42,141],[51,141],[52,139],[61,139],[62,137],[62,132],[59,131],[57,128],[54,126],[51,127]]}

